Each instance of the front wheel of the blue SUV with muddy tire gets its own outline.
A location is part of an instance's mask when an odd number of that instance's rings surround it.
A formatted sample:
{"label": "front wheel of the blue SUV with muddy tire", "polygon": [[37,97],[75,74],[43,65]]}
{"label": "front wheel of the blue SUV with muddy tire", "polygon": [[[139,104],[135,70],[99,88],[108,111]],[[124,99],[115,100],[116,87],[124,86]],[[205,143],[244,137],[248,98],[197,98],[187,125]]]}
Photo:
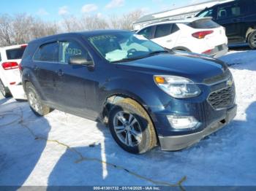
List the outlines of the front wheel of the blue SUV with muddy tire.
{"label": "front wheel of the blue SUV with muddy tire", "polygon": [[108,125],[113,139],[127,152],[142,154],[157,145],[157,135],[151,118],[131,98],[124,98],[113,106]]}

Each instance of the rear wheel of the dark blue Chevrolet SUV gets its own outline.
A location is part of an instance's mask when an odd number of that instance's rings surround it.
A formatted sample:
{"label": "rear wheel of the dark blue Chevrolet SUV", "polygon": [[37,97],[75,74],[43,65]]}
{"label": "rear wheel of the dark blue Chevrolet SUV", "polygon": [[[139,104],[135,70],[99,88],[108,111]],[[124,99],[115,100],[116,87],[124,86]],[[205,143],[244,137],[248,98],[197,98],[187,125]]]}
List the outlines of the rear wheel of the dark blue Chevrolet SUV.
{"label": "rear wheel of the dark blue Chevrolet SUV", "polygon": [[26,96],[28,98],[29,106],[32,112],[34,112],[34,114],[37,116],[44,116],[45,114],[51,112],[50,107],[42,104],[42,100],[31,82],[26,82]]}

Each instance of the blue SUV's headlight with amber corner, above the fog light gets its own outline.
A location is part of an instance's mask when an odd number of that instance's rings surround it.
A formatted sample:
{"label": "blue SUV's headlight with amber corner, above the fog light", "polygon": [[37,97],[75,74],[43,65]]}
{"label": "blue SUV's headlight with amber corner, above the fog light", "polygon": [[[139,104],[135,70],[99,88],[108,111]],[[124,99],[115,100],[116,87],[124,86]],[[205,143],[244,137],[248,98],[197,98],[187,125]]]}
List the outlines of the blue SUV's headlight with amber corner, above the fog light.
{"label": "blue SUV's headlight with amber corner, above the fog light", "polygon": [[201,93],[194,82],[184,77],[157,75],[154,82],[173,98],[192,98]]}

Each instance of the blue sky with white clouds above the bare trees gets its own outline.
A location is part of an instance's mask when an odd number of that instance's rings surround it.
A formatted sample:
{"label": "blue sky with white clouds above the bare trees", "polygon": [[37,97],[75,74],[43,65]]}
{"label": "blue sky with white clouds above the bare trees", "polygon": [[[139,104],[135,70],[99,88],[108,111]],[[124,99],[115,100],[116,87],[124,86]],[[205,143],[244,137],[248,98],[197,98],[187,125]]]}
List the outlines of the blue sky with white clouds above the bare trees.
{"label": "blue sky with white clouds above the bare trees", "polygon": [[7,0],[1,1],[1,14],[28,13],[43,20],[58,21],[62,16],[119,15],[135,9],[159,12],[206,0]]}

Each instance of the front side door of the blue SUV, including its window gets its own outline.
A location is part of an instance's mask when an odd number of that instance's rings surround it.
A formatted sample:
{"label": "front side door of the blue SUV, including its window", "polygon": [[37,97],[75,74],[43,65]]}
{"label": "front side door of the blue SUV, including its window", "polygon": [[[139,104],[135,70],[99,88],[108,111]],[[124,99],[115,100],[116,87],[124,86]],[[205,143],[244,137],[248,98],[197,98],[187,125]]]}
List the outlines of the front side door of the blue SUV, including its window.
{"label": "front side door of the blue SUV, including its window", "polygon": [[72,64],[70,58],[82,56],[92,61],[89,52],[75,39],[59,39],[59,69],[56,71],[56,99],[64,110],[94,118],[96,99],[94,69],[84,64]]}

